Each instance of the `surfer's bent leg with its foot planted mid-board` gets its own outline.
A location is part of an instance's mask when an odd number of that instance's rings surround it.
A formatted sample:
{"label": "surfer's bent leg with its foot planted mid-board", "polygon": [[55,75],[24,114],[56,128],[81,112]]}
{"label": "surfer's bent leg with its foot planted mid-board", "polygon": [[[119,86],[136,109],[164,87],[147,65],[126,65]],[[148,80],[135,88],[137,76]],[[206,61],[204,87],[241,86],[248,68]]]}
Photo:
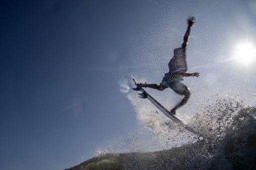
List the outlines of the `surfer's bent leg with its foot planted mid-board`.
{"label": "surfer's bent leg with its foot planted mid-board", "polygon": [[188,101],[188,99],[190,98],[190,91],[189,89],[182,83],[178,82],[177,84],[175,84],[174,87],[171,88],[174,92],[176,92],[177,94],[180,95],[184,95],[184,98],[181,100],[181,102],[179,104],[177,104],[170,112],[175,115],[175,111],[182,107],[184,104],[186,104],[186,102]]}

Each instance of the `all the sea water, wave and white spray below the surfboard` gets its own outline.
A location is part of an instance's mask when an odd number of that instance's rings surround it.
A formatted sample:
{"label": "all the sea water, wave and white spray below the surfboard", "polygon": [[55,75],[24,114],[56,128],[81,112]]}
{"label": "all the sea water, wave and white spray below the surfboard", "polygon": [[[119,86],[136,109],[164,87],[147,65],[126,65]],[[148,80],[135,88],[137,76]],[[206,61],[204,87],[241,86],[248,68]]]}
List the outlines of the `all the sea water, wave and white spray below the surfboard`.
{"label": "all the sea water, wave and white spray below the surfboard", "polygon": [[143,144],[148,152],[100,153],[70,170],[256,169],[255,106],[234,96],[218,98],[193,116],[188,124],[193,134],[159,112],[146,112],[150,106],[131,102],[138,119],[151,130]]}

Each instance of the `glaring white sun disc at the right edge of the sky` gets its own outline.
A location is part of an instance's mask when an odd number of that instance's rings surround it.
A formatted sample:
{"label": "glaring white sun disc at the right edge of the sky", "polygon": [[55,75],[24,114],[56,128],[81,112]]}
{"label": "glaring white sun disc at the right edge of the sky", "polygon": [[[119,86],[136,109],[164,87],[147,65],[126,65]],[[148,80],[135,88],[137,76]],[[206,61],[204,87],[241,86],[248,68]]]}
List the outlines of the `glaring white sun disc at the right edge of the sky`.
{"label": "glaring white sun disc at the right edge of the sky", "polygon": [[233,57],[239,63],[248,65],[256,59],[256,48],[251,42],[239,43],[235,46]]}

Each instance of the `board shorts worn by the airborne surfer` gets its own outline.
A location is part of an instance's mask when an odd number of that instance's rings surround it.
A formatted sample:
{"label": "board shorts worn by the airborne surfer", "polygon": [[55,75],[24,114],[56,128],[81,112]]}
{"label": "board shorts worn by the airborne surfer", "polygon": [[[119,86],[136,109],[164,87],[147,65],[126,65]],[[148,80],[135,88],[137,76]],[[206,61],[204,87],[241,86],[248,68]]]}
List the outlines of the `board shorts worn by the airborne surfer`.
{"label": "board shorts worn by the airborne surfer", "polygon": [[169,74],[165,74],[162,78],[160,86],[163,88],[171,88],[175,93],[179,95],[184,95],[187,87],[181,83],[183,77],[181,76],[171,76]]}

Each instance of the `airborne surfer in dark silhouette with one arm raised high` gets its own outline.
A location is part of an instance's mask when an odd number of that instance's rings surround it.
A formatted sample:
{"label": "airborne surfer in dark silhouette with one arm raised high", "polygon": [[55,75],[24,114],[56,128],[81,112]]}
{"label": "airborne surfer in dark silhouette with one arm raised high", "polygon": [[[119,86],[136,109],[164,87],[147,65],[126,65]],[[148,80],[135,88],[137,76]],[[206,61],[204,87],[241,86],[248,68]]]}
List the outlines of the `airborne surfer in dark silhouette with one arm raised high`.
{"label": "airborne surfer in dark silhouette with one arm raised high", "polygon": [[199,73],[186,73],[187,71],[187,58],[186,58],[186,45],[189,39],[190,29],[195,22],[195,17],[188,17],[187,19],[187,29],[183,37],[183,43],[180,48],[174,49],[174,55],[170,59],[168,63],[169,72],[164,74],[162,81],[159,85],[157,84],[147,84],[147,83],[139,83],[140,87],[148,87],[152,89],[156,89],[162,91],[166,88],[171,88],[175,93],[179,95],[184,95],[184,98],[181,100],[179,104],[177,104],[173,109],[171,109],[171,113],[175,115],[176,110],[182,107],[190,97],[189,89],[181,83],[183,77],[189,76],[199,76]]}

